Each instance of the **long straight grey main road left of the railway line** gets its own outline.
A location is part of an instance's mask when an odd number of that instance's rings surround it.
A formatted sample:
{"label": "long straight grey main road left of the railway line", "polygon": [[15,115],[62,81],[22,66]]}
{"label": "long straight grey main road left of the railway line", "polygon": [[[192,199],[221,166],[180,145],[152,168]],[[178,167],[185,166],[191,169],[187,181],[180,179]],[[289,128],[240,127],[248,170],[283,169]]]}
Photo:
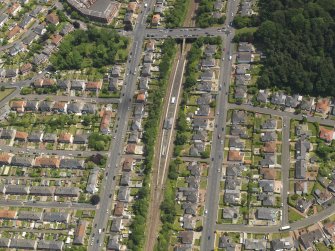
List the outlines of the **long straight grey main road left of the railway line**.
{"label": "long straight grey main road left of the railway line", "polygon": [[[124,137],[127,130],[128,119],[130,112],[128,108],[132,106],[132,98],[134,96],[136,90],[136,80],[137,76],[135,74],[135,69],[137,69],[142,55],[142,47],[144,42],[144,31],[145,31],[145,20],[147,18],[148,13],[151,11],[154,5],[154,1],[150,0],[147,2],[148,7],[143,8],[142,12],[138,16],[138,23],[135,26],[133,37],[132,37],[132,48],[131,48],[131,58],[130,62],[127,64],[126,69],[126,78],[124,80],[124,86],[121,91],[121,101],[118,107],[118,122],[117,122],[117,129],[115,131],[115,140],[112,142],[112,146],[110,149],[110,158],[107,163],[106,171],[108,175],[106,179],[103,181],[103,189],[101,189],[100,193],[100,206],[96,212],[96,216],[93,221],[93,231],[91,233],[91,237],[89,240],[89,247],[88,250],[96,251],[101,250],[101,246],[104,243],[104,235],[105,232],[102,231],[101,234],[99,233],[99,229],[105,229],[107,226],[107,222],[109,219],[111,204],[112,204],[112,197],[110,194],[113,195],[114,188],[115,188],[115,181],[113,177],[117,174],[120,169],[120,161],[121,161],[121,148],[120,146],[123,145]],[[128,74],[129,73],[129,74]],[[95,227],[96,226],[96,227]],[[108,231],[108,230],[107,230]],[[96,236],[97,241],[94,241],[93,236]]]}

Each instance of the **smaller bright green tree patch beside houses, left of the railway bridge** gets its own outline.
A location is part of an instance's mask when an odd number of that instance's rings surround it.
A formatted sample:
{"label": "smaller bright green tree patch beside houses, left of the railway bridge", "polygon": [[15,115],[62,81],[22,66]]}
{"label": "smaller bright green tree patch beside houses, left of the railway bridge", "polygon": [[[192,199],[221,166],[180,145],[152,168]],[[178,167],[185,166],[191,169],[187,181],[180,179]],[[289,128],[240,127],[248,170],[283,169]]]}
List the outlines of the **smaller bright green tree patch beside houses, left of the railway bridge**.
{"label": "smaller bright green tree patch beside houses, left of the railway bridge", "polygon": [[100,68],[125,61],[127,46],[128,39],[112,30],[93,27],[76,30],[64,38],[51,63],[57,70]]}

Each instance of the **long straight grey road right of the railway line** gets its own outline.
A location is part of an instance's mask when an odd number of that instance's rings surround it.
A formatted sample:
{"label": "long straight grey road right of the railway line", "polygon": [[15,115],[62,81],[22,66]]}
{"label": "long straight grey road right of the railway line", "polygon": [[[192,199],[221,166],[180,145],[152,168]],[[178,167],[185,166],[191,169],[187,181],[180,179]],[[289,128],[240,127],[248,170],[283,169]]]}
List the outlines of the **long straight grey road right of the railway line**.
{"label": "long straight grey road right of the railway line", "polygon": [[[236,13],[238,8],[238,1],[228,1],[227,2],[227,12],[226,12],[226,24],[232,22],[232,14]],[[217,109],[218,116],[216,117],[216,128],[213,133],[213,142],[211,149],[211,157],[214,161],[210,164],[208,173],[208,186],[206,192],[206,205],[207,215],[204,215],[204,228],[201,238],[201,250],[214,250],[214,238],[215,238],[215,223],[217,219],[218,206],[219,206],[219,193],[220,193],[220,180],[221,171],[218,173],[218,169],[222,168],[223,161],[223,147],[225,144],[225,123],[227,120],[227,107],[228,107],[228,93],[229,93],[229,83],[231,79],[232,71],[232,60],[230,56],[233,54],[232,39],[234,37],[234,30],[230,28],[231,32],[226,33],[223,37],[223,42],[225,45],[224,60],[221,62],[220,66],[220,77],[219,85],[222,85],[221,91],[218,93],[217,97]],[[221,32],[222,35],[222,32]]]}

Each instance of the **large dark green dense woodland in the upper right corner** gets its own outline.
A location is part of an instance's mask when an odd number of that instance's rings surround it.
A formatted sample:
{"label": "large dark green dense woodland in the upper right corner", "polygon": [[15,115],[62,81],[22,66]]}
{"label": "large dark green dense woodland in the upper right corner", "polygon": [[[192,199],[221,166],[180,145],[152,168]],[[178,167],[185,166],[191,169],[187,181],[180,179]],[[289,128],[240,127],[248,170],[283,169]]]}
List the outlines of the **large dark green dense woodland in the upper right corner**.
{"label": "large dark green dense woodland in the upper right corner", "polygon": [[258,85],[335,95],[335,2],[260,0],[255,40],[266,59]]}

